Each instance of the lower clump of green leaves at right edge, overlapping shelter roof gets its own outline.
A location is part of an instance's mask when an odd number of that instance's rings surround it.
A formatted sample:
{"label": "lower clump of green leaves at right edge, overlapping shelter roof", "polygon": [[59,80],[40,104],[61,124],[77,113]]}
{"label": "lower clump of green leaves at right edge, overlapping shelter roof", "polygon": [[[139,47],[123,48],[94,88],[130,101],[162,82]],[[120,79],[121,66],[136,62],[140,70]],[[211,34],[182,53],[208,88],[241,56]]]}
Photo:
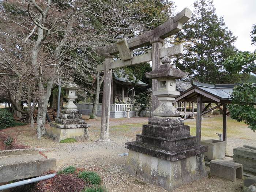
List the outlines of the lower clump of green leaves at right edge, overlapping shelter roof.
{"label": "lower clump of green leaves at right edge, overlapping shelter roof", "polygon": [[256,86],[251,83],[238,85],[231,94],[232,103],[228,105],[231,118],[244,121],[252,131],[256,130]]}

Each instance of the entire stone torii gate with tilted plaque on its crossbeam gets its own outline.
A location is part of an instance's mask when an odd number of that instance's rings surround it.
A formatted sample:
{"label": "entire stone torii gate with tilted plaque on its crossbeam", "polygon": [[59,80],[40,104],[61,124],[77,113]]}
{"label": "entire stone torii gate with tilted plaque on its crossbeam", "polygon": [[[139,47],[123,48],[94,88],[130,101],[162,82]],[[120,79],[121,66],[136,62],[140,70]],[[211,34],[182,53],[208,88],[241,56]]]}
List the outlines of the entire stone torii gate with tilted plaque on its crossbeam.
{"label": "entire stone torii gate with tilted plaque on its crossbeam", "polygon": [[[158,69],[161,64],[161,59],[165,56],[176,56],[182,54],[182,45],[166,47],[163,45],[163,40],[170,35],[176,34],[182,30],[183,23],[191,18],[192,12],[189,8],[185,8],[176,16],[170,18],[162,25],[155,29],[143,33],[137,37],[133,37],[128,41],[122,39],[116,44],[112,44],[103,48],[95,47],[94,51],[102,56],[105,56],[103,65],[97,66],[97,71],[104,71],[103,80],[103,98],[102,98],[102,115],[101,115],[101,135],[99,142],[110,142],[109,139],[109,115],[110,115],[110,95],[111,95],[111,79],[112,69],[121,68],[130,65],[136,65],[152,61],[152,70]],[[133,57],[133,50],[152,45],[152,50],[148,53]],[[114,54],[120,53],[121,60],[114,61]],[[157,91],[157,80],[152,80],[152,91]],[[152,109],[155,110],[159,106],[156,96],[152,97]]]}

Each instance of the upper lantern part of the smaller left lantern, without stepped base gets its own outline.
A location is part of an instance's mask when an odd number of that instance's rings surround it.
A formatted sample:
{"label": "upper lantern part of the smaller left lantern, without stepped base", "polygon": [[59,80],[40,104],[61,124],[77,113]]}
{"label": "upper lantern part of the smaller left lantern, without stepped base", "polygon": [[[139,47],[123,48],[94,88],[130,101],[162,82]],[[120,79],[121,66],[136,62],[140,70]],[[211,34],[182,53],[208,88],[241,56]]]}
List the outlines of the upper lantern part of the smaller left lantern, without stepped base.
{"label": "upper lantern part of the smaller left lantern, without stepped base", "polygon": [[74,82],[74,78],[69,78],[70,83],[64,84],[63,88],[66,90],[66,95],[64,96],[67,99],[67,103],[63,106],[64,109],[77,109],[77,106],[74,104],[76,96],[76,90],[78,89],[77,84]]}

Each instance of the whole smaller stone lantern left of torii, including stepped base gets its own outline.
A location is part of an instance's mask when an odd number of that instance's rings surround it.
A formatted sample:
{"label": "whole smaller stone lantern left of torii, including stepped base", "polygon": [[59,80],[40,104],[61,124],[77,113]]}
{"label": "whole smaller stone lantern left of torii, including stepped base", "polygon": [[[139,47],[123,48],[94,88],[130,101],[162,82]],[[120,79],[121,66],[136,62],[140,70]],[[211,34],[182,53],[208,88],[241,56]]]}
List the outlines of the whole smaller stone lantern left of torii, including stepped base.
{"label": "whole smaller stone lantern left of torii, including stepped base", "polygon": [[68,103],[63,106],[60,117],[55,118],[55,122],[50,123],[52,128],[51,136],[54,140],[60,142],[67,138],[74,138],[76,140],[88,140],[89,124],[85,123],[82,119],[82,114],[79,113],[77,106],[73,103],[76,96],[77,85],[74,83],[74,79],[69,79],[71,83],[65,84],[66,96]]}

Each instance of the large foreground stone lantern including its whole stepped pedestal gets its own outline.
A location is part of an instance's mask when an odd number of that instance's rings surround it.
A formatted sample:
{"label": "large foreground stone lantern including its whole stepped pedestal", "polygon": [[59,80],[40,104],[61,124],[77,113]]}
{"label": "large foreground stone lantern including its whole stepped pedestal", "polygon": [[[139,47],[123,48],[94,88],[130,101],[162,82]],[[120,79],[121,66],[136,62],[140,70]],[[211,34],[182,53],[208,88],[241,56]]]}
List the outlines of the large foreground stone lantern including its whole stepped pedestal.
{"label": "large foreground stone lantern including its whole stepped pedestal", "polygon": [[170,58],[162,59],[160,69],[146,73],[147,78],[157,79],[158,91],[153,92],[161,101],[154,110],[148,124],[143,125],[142,134],[135,142],[125,143],[129,149],[127,172],[167,190],[207,176],[204,152],[207,146],[196,144],[196,137],[190,135],[190,127],[172,105],[175,79],[188,74],[173,69]]}

